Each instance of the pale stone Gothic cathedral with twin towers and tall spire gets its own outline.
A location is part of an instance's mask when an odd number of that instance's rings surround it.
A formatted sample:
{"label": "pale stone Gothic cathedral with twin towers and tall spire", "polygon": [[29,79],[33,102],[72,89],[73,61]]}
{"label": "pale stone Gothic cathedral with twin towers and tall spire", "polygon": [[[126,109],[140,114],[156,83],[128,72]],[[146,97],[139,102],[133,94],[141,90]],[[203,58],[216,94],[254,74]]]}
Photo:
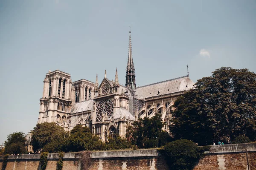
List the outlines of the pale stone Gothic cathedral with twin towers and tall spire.
{"label": "pale stone Gothic cathedral with twin towers and tall spire", "polygon": [[102,141],[114,135],[125,136],[126,128],[139,118],[161,114],[169,132],[175,99],[194,85],[189,74],[137,87],[129,32],[128,62],[125,86],[119,84],[118,72],[114,80],[105,77],[99,84],[80,79],[72,82],[63,71],[48,71],[44,79],[43,97],[40,99],[38,123],[55,122],[70,131],[76,125],[87,126]]}

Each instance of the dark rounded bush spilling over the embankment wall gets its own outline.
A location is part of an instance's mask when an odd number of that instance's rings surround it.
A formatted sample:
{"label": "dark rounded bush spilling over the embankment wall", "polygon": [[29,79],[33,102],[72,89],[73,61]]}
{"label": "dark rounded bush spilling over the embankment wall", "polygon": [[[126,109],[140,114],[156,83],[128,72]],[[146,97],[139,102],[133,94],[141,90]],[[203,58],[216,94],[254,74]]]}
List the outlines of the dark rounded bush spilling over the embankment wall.
{"label": "dark rounded bush spilling over the embankment wall", "polygon": [[159,150],[168,159],[171,170],[192,170],[209,147],[198,147],[195,142],[182,139],[169,142]]}

